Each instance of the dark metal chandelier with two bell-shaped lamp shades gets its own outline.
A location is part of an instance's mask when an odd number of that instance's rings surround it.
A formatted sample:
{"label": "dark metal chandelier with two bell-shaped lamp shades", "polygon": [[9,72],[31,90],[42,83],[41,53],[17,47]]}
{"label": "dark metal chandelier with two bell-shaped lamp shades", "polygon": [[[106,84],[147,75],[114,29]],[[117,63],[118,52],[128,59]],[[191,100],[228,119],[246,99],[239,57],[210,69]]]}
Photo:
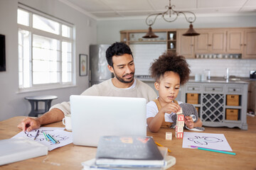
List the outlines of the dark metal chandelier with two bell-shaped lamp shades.
{"label": "dark metal chandelier with two bell-shaped lamp shades", "polygon": [[149,26],[149,30],[146,33],[146,35],[144,35],[142,38],[158,38],[159,37],[153,33],[151,28],[151,26],[153,26],[158,16],[162,16],[164,21],[171,23],[176,21],[176,19],[180,14],[183,14],[183,16],[186,18],[186,21],[190,23],[189,29],[183,35],[184,36],[200,35],[199,33],[196,33],[196,30],[193,29],[193,25],[192,25],[192,23],[196,21],[195,13],[191,11],[175,11],[174,10],[175,6],[174,5],[171,6],[171,0],[169,0],[169,6],[166,6],[165,8],[167,8],[167,11],[163,13],[153,13],[153,14],[150,14],[148,17],[146,17],[146,25]]}

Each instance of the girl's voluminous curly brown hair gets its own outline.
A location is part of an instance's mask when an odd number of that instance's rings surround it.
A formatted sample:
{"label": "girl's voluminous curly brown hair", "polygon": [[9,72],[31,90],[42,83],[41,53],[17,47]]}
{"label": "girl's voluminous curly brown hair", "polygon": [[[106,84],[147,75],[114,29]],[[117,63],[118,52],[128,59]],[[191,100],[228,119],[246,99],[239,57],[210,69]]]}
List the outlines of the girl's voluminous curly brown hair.
{"label": "girl's voluminous curly brown hair", "polygon": [[156,81],[159,81],[165,72],[176,72],[181,79],[181,85],[183,85],[188,81],[191,73],[188,67],[185,57],[177,56],[174,52],[164,52],[163,55],[151,63],[150,72],[151,77]]}

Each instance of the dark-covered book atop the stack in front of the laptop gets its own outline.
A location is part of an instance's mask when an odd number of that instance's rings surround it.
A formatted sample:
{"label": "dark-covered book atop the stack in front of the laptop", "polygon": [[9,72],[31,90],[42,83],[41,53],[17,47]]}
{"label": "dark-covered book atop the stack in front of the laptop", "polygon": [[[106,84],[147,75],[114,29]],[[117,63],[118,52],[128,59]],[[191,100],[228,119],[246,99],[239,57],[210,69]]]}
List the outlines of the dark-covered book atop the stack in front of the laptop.
{"label": "dark-covered book atop the stack in front of the laptop", "polygon": [[100,167],[164,167],[153,137],[102,136],[95,164]]}

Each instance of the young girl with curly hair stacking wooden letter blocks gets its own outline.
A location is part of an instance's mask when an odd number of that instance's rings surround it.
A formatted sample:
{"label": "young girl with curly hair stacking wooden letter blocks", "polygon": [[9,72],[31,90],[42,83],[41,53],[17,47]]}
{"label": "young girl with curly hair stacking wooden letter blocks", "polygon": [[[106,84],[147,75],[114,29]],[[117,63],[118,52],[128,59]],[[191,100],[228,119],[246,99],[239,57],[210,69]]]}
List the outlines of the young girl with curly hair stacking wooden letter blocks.
{"label": "young girl with curly hair stacking wooden letter blocks", "polygon": [[[186,128],[193,129],[201,127],[202,122],[198,118],[196,108],[191,104],[175,101],[178,96],[180,86],[189,79],[189,73],[186,59],[182,56],[176,56],[172,52],[166,52],[155,60],[150,67],[151,77],[154,77],[154,84],[159,97],[154,101],[149,101],[146,105],[146,123],[151,132],[158,132],[161,127],[174,127],[176,124],[176,113],[183,107],[186,113]],[[192,116],[189,115],[196,115]],[[195,121],[195,122],[194,122]],[[174,123],[171,125],[171,123]]]}

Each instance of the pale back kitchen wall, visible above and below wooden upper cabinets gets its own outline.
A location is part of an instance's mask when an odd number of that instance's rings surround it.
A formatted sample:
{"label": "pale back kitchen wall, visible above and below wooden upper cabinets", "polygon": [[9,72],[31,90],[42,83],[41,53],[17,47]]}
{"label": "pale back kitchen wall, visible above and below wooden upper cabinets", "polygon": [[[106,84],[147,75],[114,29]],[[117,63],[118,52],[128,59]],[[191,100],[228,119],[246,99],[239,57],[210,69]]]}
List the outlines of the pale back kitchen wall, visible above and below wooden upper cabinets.
{"label": "pale back kitchen wall, visible above and below wooden upper cabinets", "polygon": [[[146,17],[145,17],[146,18]],[[168,28],[188,28],[185,18],[178,18],[173,23],[167,23],[160,17],[152,26],[153,30]],[[232,27],[256,27],[255,16],[198,16],[193,28],[232,28]],[[144,18],[142,19],[122,19],[110,21],[97,21],[97,42],[112,43],[119,41],[120,30],[147,29]],[[143,47],[142,47],[143,46]],[[160,46],[160,47],[159,47]],[[165,45],[164,45],[165,46]],[[149,74],[150,63],[164,52],[161,45],[131,45],[134,52],[136,74]],[[166,47],[164,47],[166,48]],[[156,55],[159,54],[159,55]],[[191,76],[202,73],[204,69],[211,70],[211,76],[223,77],[225,68],[230,68],[230,75],[238,77],[249,77],[249,71],[256,69],[256,60],[188,60],[191,66]]]}

